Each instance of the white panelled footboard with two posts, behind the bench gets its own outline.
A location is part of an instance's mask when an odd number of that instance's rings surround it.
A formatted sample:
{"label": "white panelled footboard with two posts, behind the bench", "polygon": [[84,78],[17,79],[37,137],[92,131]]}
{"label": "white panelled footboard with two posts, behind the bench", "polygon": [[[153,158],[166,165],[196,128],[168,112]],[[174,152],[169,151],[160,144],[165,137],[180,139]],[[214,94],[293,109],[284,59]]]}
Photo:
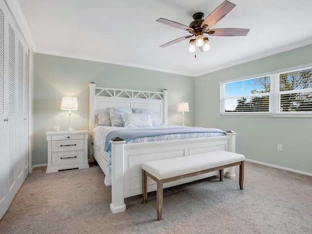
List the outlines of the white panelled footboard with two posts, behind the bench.
{"label": "white panelled footboard with two posts, behind the bench", "polygon": [[[235,132],[224,137],[207,137],[185,140],[171,140],[149,143],[124,144],[117,138],[112,143],[112,203],[113,213],[126,209],[124,198],[142,194],[141,163],[170,157],[196,155],[205,152],[225,150],[235,153]],[[196,160],[196,159],[195,159]],[[234,178],[234,168],[224,170],[226,177]],[[167,183],[171,187],[201,178],[218,175],[218,172],[194,176]],[[148,180],[148,192],[156,191],[155,181]]]}

